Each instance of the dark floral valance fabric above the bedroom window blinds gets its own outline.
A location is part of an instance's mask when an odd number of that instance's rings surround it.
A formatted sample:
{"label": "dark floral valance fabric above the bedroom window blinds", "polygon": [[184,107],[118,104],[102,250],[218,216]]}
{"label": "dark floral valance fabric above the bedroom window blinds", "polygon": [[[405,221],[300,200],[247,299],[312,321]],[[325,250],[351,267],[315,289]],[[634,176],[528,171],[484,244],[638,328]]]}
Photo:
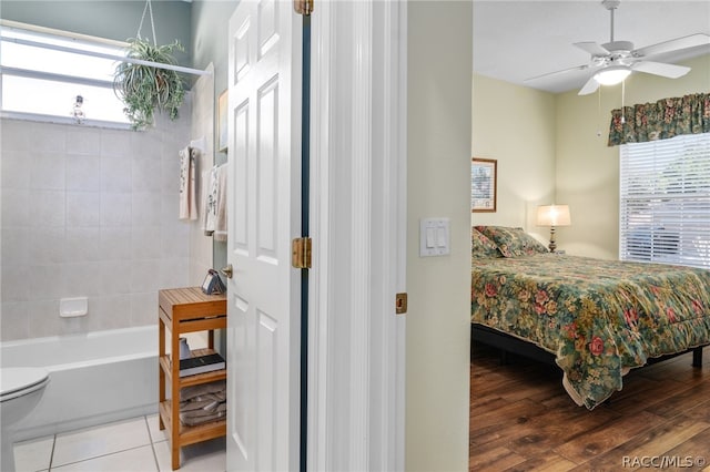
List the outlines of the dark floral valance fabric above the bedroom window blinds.
{"label": "dark floral valance fabric above the bedroom window blinds", "polygon": [[[623,117],[623,120],[622,120]],[[611,111],[609,146],[710,133],[710,94],[662,99]]]}

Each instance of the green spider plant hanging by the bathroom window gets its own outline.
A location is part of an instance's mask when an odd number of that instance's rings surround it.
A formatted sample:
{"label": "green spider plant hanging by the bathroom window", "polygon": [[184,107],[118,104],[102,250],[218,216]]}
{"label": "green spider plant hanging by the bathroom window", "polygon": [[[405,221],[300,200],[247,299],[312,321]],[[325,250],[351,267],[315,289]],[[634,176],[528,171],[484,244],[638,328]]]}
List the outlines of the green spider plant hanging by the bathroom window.
{"label": "green spider plant hanging by the bathroom window", "polygon": [[[131,59],[176,65],[174,50],[184,51],[178,40],[172,44],[156,45],[136,38],[129,40],[126,55]],[[113,90],[125,104],[123,112],[131,121],[133,130],[152,125],[155,109],[168,112],[171,120],[176,120],[185,96],[184,84],[178,72],[132,62],[121,62],[116,66]]]}

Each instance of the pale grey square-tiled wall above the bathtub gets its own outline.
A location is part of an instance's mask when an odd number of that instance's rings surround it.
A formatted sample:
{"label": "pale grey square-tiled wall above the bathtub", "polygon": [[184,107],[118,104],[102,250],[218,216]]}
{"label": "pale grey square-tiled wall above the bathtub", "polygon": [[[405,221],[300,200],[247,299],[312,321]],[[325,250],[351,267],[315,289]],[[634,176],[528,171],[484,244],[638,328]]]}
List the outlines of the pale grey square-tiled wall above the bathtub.
{"label": "pale grey square-tiled wall above the bathtub", "polygon": [[[189,107],[145,132],[2,119],[2,340],[152,325],[158,289],[189,285]],[[79,296],[89,315],[60,318]]]}

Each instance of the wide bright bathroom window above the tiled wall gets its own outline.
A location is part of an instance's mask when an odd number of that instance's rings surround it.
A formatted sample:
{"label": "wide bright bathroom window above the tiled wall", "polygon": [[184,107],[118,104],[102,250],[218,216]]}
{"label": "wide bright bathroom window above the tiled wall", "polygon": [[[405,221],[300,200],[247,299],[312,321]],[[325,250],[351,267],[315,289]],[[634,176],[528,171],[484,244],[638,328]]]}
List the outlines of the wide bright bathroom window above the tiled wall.
{"label": "wide bright bathroom window above the tiled wall", "polygon": [[7,21],[0,35],[2,116],[129,127],[111,58],[124,43]]}

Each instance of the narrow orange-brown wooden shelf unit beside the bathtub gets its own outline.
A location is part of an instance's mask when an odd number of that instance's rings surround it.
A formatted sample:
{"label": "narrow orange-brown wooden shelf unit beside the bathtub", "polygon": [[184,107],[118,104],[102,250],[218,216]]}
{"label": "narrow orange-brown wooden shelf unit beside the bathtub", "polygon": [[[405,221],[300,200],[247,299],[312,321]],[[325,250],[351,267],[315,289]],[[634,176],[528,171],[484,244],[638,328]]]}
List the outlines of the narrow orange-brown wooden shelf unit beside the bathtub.
{"label": "narrow orange-brown wooden shelf unit beside the bathtub", "polygon": [[166,398],[170,384],[172,398],[180,399],[180,389],[226,379],[226,369],[180,377],[180,362],[171,362],[165,353],[165,328],[170,330],[170,351],[180,357],[180,335],[209,331],[207,349],[195,349],[193,356],[214,352],[214,330],[226,328],[226,296],[205,295],[200,287],[160,290],[159,304],[159,421],[168,429],[172,469],[180,469],[180,448],[226,435],[226,419],[189,427],[180,421],[180,401]]}

